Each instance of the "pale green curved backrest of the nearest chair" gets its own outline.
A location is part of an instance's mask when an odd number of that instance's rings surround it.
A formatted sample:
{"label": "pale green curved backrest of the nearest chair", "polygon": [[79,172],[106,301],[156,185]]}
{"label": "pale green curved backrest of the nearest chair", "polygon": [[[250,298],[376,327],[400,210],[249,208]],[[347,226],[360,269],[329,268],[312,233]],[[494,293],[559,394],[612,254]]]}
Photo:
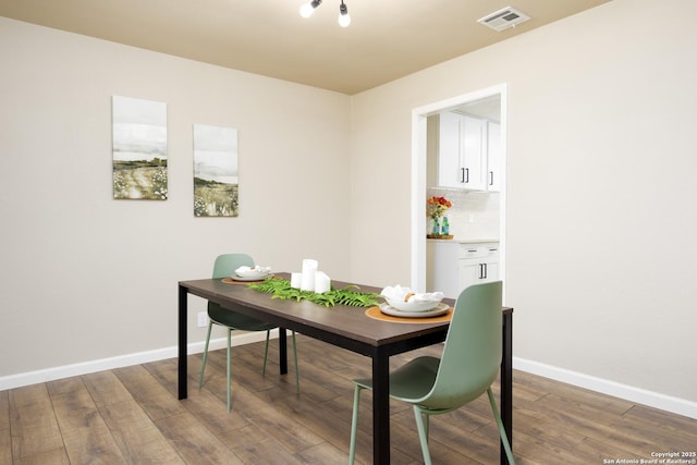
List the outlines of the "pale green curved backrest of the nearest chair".
{"label": "pale green curved backrest of the nearest chair", "polygon": [[428,408],[457,408],[478,397],[501,366],[501,281],[472,285],[455,302]]}

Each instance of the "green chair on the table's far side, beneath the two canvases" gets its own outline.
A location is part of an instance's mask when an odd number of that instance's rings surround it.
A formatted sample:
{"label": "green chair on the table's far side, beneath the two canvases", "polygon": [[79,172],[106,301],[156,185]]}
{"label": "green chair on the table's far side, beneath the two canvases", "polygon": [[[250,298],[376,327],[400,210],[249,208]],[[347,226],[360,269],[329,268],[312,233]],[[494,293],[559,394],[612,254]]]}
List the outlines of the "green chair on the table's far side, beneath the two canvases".
{"label": "green chair on the table's far side, beneath the two canvases", "polygon": [[[254,260],[250,256],[246,254],[225,254],[220,255],[216,258],[216,262],[213,265],[213,279],[222,279],[230,278],[237,268],[242,266],[254,267]],[[204,370],[206,369],[206,360],[208,359],[208,343],[210,342],[210,331],[212,330],[213,325],[220,325],[228,328],[228,412],[231,408],[231,370],[230,370],[230,345],[231,345],[231,335],[232,330],[241,330],[241,331],[266,331],[266,348],[264,351],[264,368],[261,370],[262,375],[266,375],[266,359],[269,355],[269,334],[272,329],[277,327],[272,323],[267,323],[265,321],[260,321],[254,319],[252,317],[247,317],[246,315],[239,314],[236,311],[232,311],[225,308],[222,308],[220,305],[215,304],[212,302],[208,302],[208,335],[206,335],[206,347],[204,348],[204,360],[200,366],[200,376],[198,378],[198,389],[204,384]],[[297,348],[295,346],[295,331],[293,334],[293,358],[295,360],[295,391],[299,392],[301,390],[301,381],[299,375],[297,370]]]}

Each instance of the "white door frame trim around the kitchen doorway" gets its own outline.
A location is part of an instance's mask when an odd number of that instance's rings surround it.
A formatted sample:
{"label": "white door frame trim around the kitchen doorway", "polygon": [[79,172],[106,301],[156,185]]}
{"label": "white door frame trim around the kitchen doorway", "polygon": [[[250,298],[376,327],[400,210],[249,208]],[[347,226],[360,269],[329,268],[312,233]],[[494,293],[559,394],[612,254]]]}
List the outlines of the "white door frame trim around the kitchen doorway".
{"label": "white door frame trim around the kitchen doorway", "polygon": [[[447,100],[416,108],[412,111],[412,289],[418,292],[432,292],[436,289],[427,289],[427,216],[426,200],[429,182],[435,176],[429,175],[433,170],[432,163],[428,163],[429,131],[428,118],[440,114],[443,111],[456,111],[463,113],[480,113],[480,117],[496,120],[499,118],[500,135],[500,188],[499,188],[499,249],[500,264],[499,277],[505,276],[505,196],[506,196],[506,85],[500,84],[474,93],[453,97]],[[486,114],[485,114],[486,113]],[[432,137],[432,134],[431,134]],[[427,180],[429,180],[427,182]],[[504,281],[505,282],[505,281]]]}

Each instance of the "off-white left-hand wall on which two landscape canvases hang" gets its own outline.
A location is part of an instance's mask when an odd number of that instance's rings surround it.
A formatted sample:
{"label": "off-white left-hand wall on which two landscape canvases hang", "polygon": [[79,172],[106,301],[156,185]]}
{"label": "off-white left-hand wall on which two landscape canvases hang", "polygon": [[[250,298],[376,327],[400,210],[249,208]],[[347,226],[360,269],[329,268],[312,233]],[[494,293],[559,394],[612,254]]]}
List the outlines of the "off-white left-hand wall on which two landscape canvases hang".
{"label": "off-white left-hand wall on which two landscape canvases hang", "polygon": [[[0,61],[0,378],[174,346],[221,253],[348,279],[347,96],[3,17]],[[112,95],[168,103],[168,200],[112,199]],[[239,130],[237,218],[194,218],[194,123]]]}

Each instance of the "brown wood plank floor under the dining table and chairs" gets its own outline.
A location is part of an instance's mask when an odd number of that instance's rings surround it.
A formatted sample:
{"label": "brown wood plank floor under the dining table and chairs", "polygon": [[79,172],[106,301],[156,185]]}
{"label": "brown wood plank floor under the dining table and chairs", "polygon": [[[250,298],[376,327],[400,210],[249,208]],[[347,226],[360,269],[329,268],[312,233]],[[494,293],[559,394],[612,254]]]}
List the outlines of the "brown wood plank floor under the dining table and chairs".
{"label": "brown wood plank floor under the dining table and chairs", "polygon": [[[201,357],[189,357],[189,399],[181,402],[176,359],[1,391],[0,464],[346,463],[351,379],[369,376],[370,360],[298,336],[296,395],[292,363],[290,376],[278,375],[277,343],[266,377],[262,343],[233,348],[231,414],[224,351],[211,352],[200,391]],[[428,347],[391,363],[440,350]],[[697,451],[695,419],[529,374],[514,372],[513,403],[518,464],[609,464],[650,460],[652,452]],[[369,392],[360,405],[357,462],[371,463]],[[392,463],[421,463],[411,407],[395,402],[391,414]],[[435,464],[499,461],[486,395],[435,417],[430,438]]]}

